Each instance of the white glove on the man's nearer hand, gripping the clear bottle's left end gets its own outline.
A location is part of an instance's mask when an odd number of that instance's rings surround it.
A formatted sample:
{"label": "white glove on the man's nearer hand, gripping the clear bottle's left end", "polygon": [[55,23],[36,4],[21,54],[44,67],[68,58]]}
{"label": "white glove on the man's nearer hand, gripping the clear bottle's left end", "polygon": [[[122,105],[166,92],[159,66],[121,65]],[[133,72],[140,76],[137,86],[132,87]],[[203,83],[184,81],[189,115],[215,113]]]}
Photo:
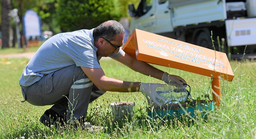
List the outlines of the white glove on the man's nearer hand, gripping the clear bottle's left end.
{"label": "white glove on the man's nearer hand, gripping the clear bottle's left end", "polygon": [[147,102],[156,107],[160,106],[161,104],[156,100],[156,98],[160,101],[165,101],[163,98],[161,98],[157,92],[156,87],[164,86],[164,84],[160,83],[141,83],[140,85],[140,92],[144,93],[147,98]]}

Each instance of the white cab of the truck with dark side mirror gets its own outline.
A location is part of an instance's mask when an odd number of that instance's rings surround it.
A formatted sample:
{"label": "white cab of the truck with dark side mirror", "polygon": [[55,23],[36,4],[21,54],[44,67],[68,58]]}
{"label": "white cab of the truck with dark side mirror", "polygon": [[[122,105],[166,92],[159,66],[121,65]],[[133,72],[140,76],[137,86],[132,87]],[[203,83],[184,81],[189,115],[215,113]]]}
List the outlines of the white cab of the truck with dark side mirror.
{"label": "white cab of the truck with dark side mirror", "polygon": [[136,11],[130,10],[130,15],[133,17],[130,33],[135,28],[156,34],[173,32],[168,0],[141,0]]}

